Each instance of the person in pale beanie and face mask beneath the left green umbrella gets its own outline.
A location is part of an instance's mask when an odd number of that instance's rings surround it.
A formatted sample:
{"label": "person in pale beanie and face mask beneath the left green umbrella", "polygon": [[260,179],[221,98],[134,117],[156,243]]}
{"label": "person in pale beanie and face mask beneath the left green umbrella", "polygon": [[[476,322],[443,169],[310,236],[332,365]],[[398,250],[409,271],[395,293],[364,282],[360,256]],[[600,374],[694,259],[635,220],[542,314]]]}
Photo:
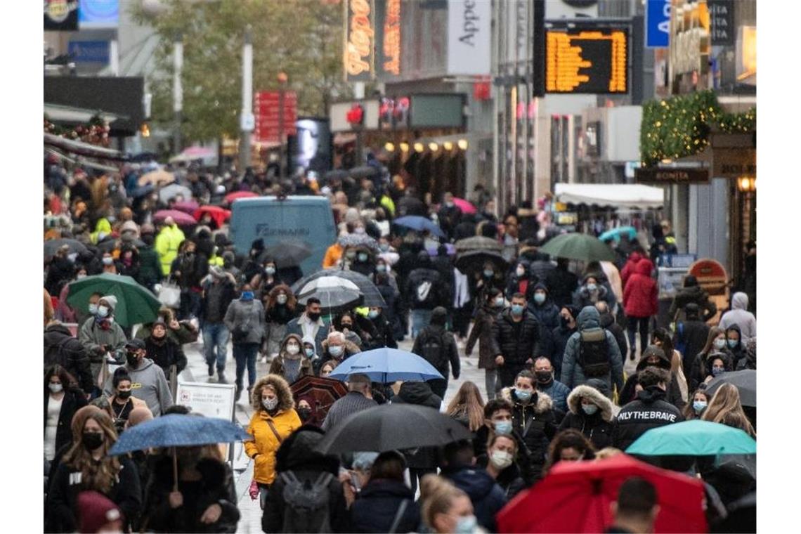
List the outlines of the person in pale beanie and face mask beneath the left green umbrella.
{"label": "person in pale beanie and face mask beneath the left green umbrella", "polygon": [[[114,295],[106,295],[99,299],[97,315],[87,319],[78,331],[78,339],[89,355],[92,376],[96,383],[99,383],[103,365],[106,365],[105,355],[122,350],[127,342],[123,327],[114,320],[116,306],[117,297]],[[95,389],[93,396],[97,395],[99,390]]]}

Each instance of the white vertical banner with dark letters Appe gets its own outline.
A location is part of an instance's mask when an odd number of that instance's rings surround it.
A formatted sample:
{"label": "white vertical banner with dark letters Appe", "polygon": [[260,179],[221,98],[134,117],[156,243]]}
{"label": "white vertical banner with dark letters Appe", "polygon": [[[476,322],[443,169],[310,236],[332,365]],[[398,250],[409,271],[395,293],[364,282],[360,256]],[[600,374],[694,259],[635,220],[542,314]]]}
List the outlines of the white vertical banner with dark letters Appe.
{"label": "white vertical banner with dark letters Appe", "polygon": [[449,0],[448,74],[490,74],[491,26],[490,0]]}

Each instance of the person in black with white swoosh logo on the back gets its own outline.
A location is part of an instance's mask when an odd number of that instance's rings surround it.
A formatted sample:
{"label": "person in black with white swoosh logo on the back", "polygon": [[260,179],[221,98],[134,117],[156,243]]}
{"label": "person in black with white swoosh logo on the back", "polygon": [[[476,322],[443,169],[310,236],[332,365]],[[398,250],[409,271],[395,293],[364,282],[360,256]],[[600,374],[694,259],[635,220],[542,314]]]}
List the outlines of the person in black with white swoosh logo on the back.
{"label": "person in black with white swoosh logo on the back", "polygon": [[448,305],[447,284],[433,268],[428,252],[417,254],[417,268],[409,273],[404,290],[406,303],[412,311],[412,337],[416,338],[429,326],[431,311]]}

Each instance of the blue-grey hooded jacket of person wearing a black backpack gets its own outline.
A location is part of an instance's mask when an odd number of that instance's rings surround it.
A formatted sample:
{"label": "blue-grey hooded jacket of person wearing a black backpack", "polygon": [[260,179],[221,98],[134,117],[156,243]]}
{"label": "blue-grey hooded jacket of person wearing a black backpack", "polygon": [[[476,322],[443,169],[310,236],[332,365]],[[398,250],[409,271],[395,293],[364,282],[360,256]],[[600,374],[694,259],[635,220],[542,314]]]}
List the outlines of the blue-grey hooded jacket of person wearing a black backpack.
{"label": "blue-grey hooded jacket of person wearing a black backpack", "polygon": [[[587,378],[584,375],[582,366],[578,363],[578,351],[581,346],[581,332],[582,331],[595,331],[602,330],[601,328],[601,314],[594,306],[586,306],[578,313],[576,318],[578,331],[570,336],[565,345],[565,355],[562,359],[562,380],[570,389],[586,383]],[[623,359],[620,355],[620,348],[618,342],[615,341],[614,335],[610,331],[606,333],[606,346],[609,349],[610,367],[611,371],[606,377],[601,377],[606,383],[609,384],[609,390],[612,391],[612,386],[618,387],[618,391],[623,389]]]}

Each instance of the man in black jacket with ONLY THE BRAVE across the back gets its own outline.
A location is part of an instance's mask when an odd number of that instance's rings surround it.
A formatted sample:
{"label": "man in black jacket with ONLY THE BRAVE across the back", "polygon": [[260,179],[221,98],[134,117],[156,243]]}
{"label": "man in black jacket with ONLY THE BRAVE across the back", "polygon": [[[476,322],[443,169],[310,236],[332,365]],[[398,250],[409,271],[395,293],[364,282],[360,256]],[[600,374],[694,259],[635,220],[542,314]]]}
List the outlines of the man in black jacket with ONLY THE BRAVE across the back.
{"label": "man in black jacket with ONLY THE BRAVE across the back", "polygon": [[642,391],[621,409],[612,430],[612,445],[621,451],[651,428],[684,420],[682,412],[665,400],[670,371],[649,366],[639,372],[638,379]]}

